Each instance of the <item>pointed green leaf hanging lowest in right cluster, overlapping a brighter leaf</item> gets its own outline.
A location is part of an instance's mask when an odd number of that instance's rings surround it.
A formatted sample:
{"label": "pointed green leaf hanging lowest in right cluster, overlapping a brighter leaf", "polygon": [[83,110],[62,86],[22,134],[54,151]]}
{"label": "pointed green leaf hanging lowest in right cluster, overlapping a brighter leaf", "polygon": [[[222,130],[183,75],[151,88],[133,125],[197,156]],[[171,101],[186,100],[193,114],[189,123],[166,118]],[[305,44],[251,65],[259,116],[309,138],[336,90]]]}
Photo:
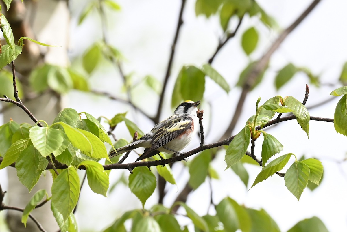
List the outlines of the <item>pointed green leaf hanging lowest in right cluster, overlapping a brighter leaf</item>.
{"label": "pointed green leaf hanging lowest in right cluster, overlapping a brighter leaf", "polygon": [[301,194],[306,188],[308,178],[310,176],[310,168],[300,161],[295,161],[287,170],[284,176],[285,185],[288,190],[296,197],[300,199]]}

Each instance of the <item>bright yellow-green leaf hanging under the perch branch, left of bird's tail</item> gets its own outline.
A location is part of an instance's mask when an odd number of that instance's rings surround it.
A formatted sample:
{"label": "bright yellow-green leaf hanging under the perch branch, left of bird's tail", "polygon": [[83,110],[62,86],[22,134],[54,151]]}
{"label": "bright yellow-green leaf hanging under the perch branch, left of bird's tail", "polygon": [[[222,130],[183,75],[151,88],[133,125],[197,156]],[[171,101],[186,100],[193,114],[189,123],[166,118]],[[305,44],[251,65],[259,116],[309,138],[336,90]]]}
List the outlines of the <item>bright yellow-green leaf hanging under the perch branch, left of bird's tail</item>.
{"label": "bright yellow-green leaf hanging under the perch branch, left of bird's tail", "polygon": [[83,161],[79,164],[79,166],[81,165],[86,167],[88,185],[93,192],[107,197],[110,182],[102,165],[96,161]]}

